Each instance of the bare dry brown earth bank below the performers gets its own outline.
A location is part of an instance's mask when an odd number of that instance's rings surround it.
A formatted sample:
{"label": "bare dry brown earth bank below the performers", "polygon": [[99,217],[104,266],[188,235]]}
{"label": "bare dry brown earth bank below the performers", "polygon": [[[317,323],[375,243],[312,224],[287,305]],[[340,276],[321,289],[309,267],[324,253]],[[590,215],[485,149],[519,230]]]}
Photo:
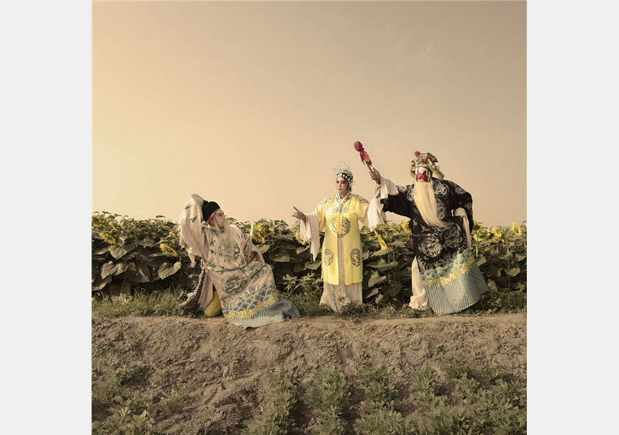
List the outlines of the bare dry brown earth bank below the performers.
{"label": "bare dry brown earth bank below the performers", "polygon": [[[436,351],[464,355],[472,370],[495,361],[526,383],[525,313],[389,320],[300,317],[246,330],[223,317],[95,317],[92,346],[93,383],[124,364],[142,364],[165,370],[164,385],[146,383],[142,389],[155,402],[163,391],[182,386],[184,408],[157,419],[160,434],[240,434],[243,421],[270,402],[269,374],[279,365],[293,369],[301,390],[310,386],[318,368],[342,368],[351,386],[351,409],[344,415],[351,434],[362,401],[355,379],[364,366],[387,368],[400,390],[395,408],[413,421],[408,377],[426,362],[433,364]],[[312,427],[311,414],[295,414],[293,434]],[[93,420],[102,418],[93,414]]]}

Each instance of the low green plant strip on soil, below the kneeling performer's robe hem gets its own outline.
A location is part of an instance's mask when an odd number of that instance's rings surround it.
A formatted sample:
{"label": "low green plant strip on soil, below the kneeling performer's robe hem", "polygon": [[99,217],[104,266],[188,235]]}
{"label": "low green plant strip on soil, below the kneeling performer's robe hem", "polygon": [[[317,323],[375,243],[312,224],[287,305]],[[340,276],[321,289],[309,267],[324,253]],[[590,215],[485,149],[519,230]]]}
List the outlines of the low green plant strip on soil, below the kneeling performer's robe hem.
{"label": "low green plant strip on soil, below the kneeling performer's robe hem", "polygon": [[285,435],[292,422],[290,415],[297,401],[296,377],[292,369],[277,367],[270,375],[273,402],[253,420],[245,421],[243,435]]}

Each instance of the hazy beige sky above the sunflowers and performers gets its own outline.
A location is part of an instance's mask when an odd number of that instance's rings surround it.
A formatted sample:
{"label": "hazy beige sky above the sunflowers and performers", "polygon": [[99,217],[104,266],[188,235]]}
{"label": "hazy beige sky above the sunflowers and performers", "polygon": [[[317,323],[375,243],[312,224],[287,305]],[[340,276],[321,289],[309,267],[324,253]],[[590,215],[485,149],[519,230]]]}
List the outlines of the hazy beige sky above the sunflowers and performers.
{"label": "hazy beige sky above the sunflowers and performers", "polygon": [[[429,150],[475,221],[526,220],[526,3],[101,2],[93,11],[94,211],[177,220],[191,193],[292,218]],[[401,221],[398,216],[388,218]]]}

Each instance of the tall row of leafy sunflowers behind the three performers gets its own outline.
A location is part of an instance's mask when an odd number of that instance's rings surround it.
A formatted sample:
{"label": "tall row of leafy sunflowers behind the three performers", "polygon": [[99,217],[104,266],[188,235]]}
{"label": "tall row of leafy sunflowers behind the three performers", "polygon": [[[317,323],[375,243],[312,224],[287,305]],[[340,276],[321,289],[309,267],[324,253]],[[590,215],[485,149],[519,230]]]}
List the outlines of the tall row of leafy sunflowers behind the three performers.
{"label": "tall row of leafy sunflowers behind the three performers", "polygon": [[[180,249],[175,224],[156,216],[136,220],[127,216],[95,213],[92,216],[92,291],[99,295],[151,293],[164,289],[190,291],[197,282],[199,264],[191,266]],[[250,223],[230,222],[246,233]],[[473,251],[492,293],[521,301],[526,292],[527,228],[484,227],[475,223]],[[322,235],[321,235],[322,238]],[[364,300],[384,304],[408,302],[411,295],[411,262],[408,223],[388,223],[371,232],[361,230]],[[276,284],[285,291],[301,291],[307,311],[316,309],[320,293],[321,255],[312,261],[309,245],[301,241],[298,222],[261,219],[254,224],[252,240],[273,267]]]}

